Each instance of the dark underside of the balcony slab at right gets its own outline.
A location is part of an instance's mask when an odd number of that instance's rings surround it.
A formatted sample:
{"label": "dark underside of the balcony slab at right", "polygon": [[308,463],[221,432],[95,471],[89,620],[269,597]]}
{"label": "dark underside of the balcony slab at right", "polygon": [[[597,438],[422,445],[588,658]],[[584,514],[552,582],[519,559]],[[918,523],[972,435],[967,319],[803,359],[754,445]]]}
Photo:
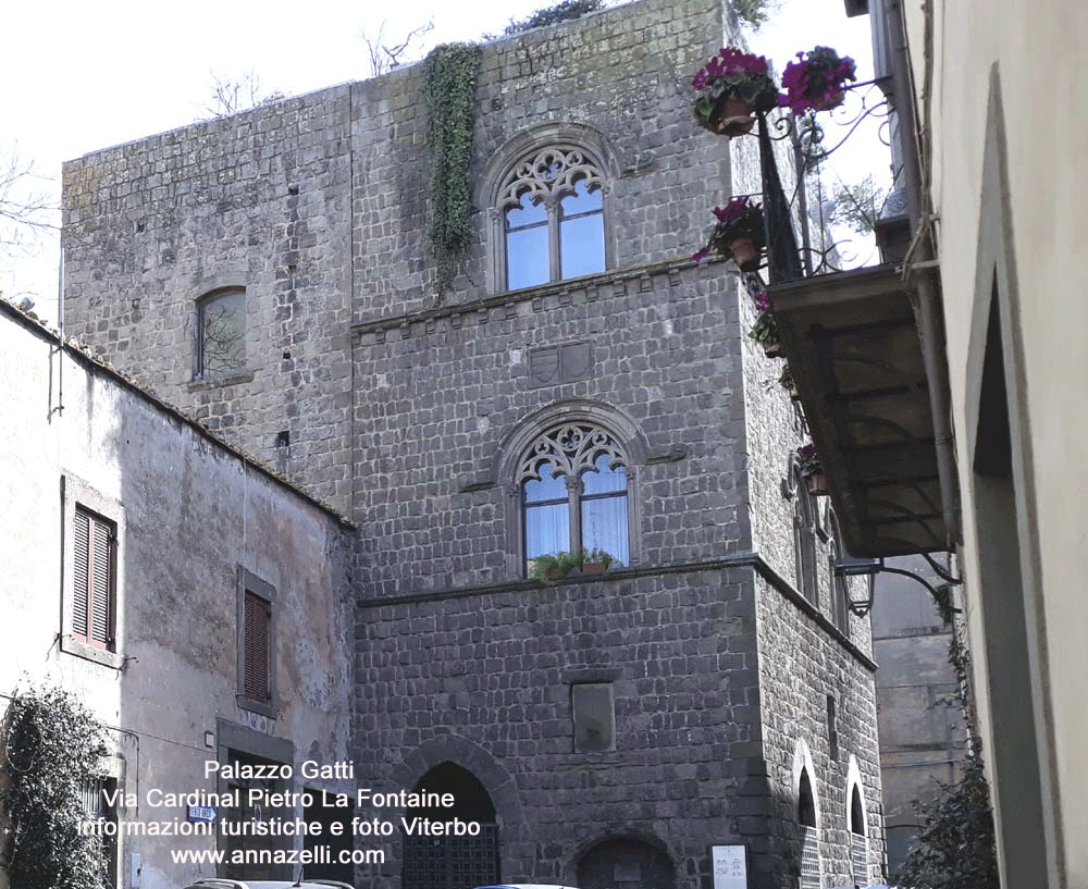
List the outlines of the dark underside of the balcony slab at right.
{"label": "dark underside of the balcony slab at right", "polygon": [[845,548],[945,548],[929,386],[910,294],[891,266],[767,288]]}

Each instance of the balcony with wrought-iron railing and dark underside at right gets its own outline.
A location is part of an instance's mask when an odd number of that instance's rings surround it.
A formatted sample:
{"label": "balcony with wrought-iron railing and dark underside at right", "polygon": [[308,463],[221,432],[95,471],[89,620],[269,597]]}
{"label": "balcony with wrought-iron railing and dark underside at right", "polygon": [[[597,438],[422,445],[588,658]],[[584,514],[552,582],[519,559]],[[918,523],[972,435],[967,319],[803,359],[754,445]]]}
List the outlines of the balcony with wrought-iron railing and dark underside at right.
{"label": "balcony with wrought-iron railing and dark underside at right", "polygon": [[[853,92],[860,110],[840,121],[820,121],[815,143],[794,136],[798,155],[821,160],[874,113],[887,116],[882,89],[877,101]],[[845,136],[836,141],[841,124]],[[790,127],[793,128],[793,124]],[[833,269],[833,248],[813,247],[804,189],[788,199],[776,165],[781,122],[759,116],[759,155],[767,245],[766,266],[745,283],[755,295],[765,286],[777,326],[778,349],[794,386],[836,510],[845,548],[880,558],[948,548],[937,436],[930,404],[917,300],[904,284],[901,261],[908,237],[895,214],[877,232],[886,264]],[[809,123],[809,133],[814,129]],[[833,147],[820,141],[825,131]],[[842,132],[842,131],[840,131]],[[799,245],[795,223],[800,222]],[[820,249],[823,248],[823,249]],[[764,285],[764,275],[766,285]]]}

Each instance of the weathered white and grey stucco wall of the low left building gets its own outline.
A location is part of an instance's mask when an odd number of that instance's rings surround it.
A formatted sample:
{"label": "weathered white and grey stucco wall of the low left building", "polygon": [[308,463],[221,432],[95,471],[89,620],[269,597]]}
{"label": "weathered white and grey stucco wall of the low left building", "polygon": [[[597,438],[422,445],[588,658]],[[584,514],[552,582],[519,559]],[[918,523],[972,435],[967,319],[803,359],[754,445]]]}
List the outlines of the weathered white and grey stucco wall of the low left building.
{"label": "weathered white and grey stucco wall of the low left building", "polygon": [[[149,808],[146,794],[214,789],[203,763],[217,758],[215,743],[206,745],[205,732],[214,736],[218,719],[292,741],[295,765],[346,761],[351,612],[342,522],[82,355],[58,355],[55,339],[10,308],[0,309],[0,498],[11,520],[0,542],[0,688],[61,684],[111,727],[116,777],[140,797],[122,820],[185,820],[183,808]],[[71,577],[62,587],[62,480],[66,498],[124,526],[120,667],[63,650]],[[239,566],[276,591],[277,718],[236,703]],[[170,851],[213,842],[126,840],[122,869],[139,853],[145,889],[173,889],[214,872],[173,865]]]}

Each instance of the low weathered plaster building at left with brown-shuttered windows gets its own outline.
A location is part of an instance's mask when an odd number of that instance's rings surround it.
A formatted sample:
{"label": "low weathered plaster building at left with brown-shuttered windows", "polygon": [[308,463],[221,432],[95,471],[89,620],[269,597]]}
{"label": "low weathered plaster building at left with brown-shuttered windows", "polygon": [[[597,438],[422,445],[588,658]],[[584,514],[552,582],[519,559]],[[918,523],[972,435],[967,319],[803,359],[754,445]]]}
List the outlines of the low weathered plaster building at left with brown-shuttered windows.
{"label": "low weathered plaster building at left with brown-shuttered windows", "polygon": [[[87,817],[121,831],[103,843],[111,887],[176,889],[208,865],[173,855],[217,842],[272,849],[168,832],[208,827],[168,794],[263,785],[208,762],[290,766],[277,793],[350,789],[299,777],[349,757],[350,524],[4,300],[0,380],[0,729],[10,693],[42,686],[106,726],[83,790]],[[5,746],[0,786],[10,762]],[[240,802],[220,816],[254,817]],[[23,829],[0,814],[0,887]]]}

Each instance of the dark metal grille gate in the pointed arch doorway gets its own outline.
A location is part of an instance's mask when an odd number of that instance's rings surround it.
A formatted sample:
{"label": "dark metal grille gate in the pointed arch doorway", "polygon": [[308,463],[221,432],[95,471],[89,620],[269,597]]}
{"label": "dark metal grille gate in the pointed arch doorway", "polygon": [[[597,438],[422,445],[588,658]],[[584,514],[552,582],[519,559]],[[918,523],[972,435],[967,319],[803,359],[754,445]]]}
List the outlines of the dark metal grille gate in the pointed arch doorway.
{"label": "dark metal grille gate in the pointed arch doorway", "polygon": [[475,837],[405,837],[404,889],[472,889],[498,882],[498,825]]}

